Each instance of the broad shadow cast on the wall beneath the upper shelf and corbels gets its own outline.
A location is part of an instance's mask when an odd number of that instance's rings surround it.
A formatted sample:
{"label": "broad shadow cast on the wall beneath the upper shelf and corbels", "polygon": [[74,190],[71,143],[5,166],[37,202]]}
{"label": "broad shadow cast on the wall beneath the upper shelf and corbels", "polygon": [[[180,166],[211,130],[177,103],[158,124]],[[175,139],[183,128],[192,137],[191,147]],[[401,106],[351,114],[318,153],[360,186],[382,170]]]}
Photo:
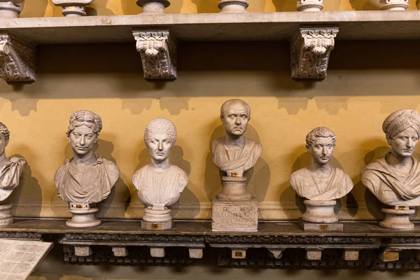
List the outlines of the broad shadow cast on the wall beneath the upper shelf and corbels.
{"label": "broad shadow cast on the wall beneath the upper shelf and corbels", "polygon": [[[0,83],[0,94],[2,99],[10,100],[13,111],[21,116],[36,111],[38,99],[67,98],[121,98],[123,109],[135,114],[150,109],[153,100],[158,99],[162,110],[176,116],[182,110],[190,110],[190,97],[224,97],[227,93],[255,97],[261,92],[276,97],[278,108],[291,115],[307,109],[312,99],[318,109],[337,115],[347,109],[350,97],[394,95],[397,88],[398,94],[411,94],[412,85],[408,83],[395,79],[381,79],[377,83],[371,78],[364,81],[363,77],[372,71],[419,71],[417,48],[418,41],[337,41],[330,57],[328,80],[293,80],[288,42],[180,42],[179,78],[156,83],[144,80],[134,41],[40,45],[37,81],[19,86]],[[343,74],[349,72],[354,72],[353,76],[358,73],[360,78]],[[335,102],[330,102],[332,97]],[[408,98],[398,102],[401,108],[418,105]],[[384,102],[381,106],[387,110],[396,104]]]}

